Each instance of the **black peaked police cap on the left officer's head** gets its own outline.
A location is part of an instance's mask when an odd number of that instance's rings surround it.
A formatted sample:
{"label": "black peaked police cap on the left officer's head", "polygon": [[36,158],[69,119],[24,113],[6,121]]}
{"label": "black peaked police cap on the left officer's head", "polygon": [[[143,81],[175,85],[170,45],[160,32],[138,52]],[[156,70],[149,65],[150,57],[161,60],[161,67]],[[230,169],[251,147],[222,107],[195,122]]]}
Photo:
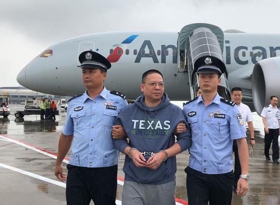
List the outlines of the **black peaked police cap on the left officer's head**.
{"label": "black peaked police cap on the left officer's head", "polygon": [[79,55],[81,68],[101,68],[107,71],[111,63],[103,55],[94,51],[84,51]]}

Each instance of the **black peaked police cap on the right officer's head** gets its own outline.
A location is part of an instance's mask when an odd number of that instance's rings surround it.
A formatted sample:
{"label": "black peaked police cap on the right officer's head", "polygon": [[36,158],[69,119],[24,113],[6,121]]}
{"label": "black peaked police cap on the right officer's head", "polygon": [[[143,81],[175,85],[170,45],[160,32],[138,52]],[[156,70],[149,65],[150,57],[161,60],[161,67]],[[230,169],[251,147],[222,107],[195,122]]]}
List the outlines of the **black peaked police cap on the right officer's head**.
{"label": "black peaked police cap on the right officer's head", "polygon": [[214,56],[204,56],[194,63],[194,69],[197,73],[225,73],[226,66],[219,58]]}

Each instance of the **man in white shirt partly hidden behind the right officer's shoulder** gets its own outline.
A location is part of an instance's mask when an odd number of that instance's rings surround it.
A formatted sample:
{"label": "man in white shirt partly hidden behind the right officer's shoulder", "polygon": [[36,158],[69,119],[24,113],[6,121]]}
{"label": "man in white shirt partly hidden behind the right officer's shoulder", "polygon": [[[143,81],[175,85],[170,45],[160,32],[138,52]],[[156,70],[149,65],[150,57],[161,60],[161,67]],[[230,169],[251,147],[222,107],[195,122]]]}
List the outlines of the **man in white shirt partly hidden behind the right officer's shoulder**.
{"label": "man in white shirt partly hidden behind the right officer's shoulder", "polygon": [[[242,101],[242,89],[240,87],[233,87],[231,91],[231,99],[233,102],[235,102],[240,114],[242,115],[242,120],[243,120],[243,128],[245,132],[247,131],[246,129],[246,123],[248,124],[248,129],[250,132],[250,145],[253,148],[255,145],[255,136],[254,136],[254,125],[253,125],[253,115],[251,113],[250,108],[243,104]],[[233,152],[234,152],[234,181],[233,181],[233,189],[236,191],[237,188],[237,182],[239,180],[239,176],[241,174],[241,166],[240,166],[240,161],[239,161],[239,156],[238,156],[238,147],[236,140],[233,140]]]}

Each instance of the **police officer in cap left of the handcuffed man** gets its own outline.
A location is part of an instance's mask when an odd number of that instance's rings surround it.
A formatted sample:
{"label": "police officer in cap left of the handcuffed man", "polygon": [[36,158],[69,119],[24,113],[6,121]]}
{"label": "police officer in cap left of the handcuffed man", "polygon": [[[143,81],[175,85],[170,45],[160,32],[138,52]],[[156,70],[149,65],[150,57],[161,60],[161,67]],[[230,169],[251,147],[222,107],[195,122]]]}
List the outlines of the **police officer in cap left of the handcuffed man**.
{"label": "police officer in cap left of the handcuffed man", "polygon": [[85,51],[79,55],[82,80],[87,90],[68,101],[67,120],[59,139],[54,174],[66,180],[62,161],[71,146],[67,165],[67,204],[116,204],[119,151],[114,148],[112,126],[128,104],[120,92],[104,86],[110,62],[101,54]]}

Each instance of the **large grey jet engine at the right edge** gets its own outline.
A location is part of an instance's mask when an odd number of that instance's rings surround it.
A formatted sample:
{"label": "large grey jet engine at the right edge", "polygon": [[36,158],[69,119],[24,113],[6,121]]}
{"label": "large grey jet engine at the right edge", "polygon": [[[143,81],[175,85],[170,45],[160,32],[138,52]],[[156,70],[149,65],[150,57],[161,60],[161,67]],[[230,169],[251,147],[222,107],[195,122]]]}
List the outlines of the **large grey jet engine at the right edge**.
{"label": "large grey jet engine at the right edge", "polygon": [[252,94],[258,114],[270,103],[271,96],[280,97],[280,57],[264,59],[254,66]]}

